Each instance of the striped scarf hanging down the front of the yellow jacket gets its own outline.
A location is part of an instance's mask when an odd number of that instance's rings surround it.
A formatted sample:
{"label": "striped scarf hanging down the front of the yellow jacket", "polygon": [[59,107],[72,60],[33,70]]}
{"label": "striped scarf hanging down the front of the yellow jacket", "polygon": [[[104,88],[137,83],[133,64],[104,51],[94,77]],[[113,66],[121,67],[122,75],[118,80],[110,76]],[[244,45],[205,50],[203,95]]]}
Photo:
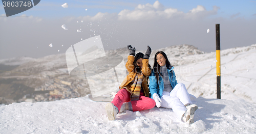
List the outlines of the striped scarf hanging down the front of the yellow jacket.
{"label": "striped scarf hanging down the front of the yellow jacket", "polygon": [[136,74],[134,81],[132,81],[130,84],[131,85],[131,89],[133,90],[133,94],[132,94],[132,98],[131,101],[133,100],[139,100],[140,97],[140,89],[141,89],[141,83],[143,81],[143,73],[139,72]]}

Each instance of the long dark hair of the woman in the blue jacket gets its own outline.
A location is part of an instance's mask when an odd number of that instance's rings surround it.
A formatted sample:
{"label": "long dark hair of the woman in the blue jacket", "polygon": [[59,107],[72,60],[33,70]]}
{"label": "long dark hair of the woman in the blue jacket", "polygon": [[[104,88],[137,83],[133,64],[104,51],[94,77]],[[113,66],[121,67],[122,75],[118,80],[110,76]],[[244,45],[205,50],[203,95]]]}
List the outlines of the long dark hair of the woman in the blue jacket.
{"label": "long dark hair of the woman in the blue jacket", "polygon": [[160,65],[157,63],[157,55],[161,53],[163,55],[163,57],[165,58],[165,65],[168,68],[170,66],[170,62],[166,56],[166,54],[163,51],[158,51],[155,55],[155,62],[154,62],[154,66],[153,66],[153,71],[155,73],[155,76],[157,78],[157,85],[158,85],[158,81],[159,81],[159,74],[162,76],[162,74],[160,73]]}

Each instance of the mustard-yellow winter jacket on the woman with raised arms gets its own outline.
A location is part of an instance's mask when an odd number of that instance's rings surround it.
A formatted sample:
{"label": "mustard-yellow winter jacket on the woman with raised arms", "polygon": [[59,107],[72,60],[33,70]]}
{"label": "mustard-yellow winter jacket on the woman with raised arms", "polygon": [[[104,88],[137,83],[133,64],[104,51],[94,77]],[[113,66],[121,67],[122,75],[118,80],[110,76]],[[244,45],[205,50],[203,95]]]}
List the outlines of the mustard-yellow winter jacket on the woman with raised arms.
{"label": "mustard-yellow winter jacket on the woman with raised arms", "polygon": [[[127,86],[129,83],[131,83],[136,76],[133,61],[134,61],[134,56],[128,56],[128,61],[126,62],[125,67],[126,67],[127,71],[129,72],[129,74],[126,76],[124,81],[121,83],[120,89],[123,89],[125,86]],[[148,59],[142,60],[141,72],[143,73],[143,81],[142,81],[141,85],[144,90],[144,94],[146,97],[150,97],[150,92],[147,87],[147,82],[148,82],[147,80],[148,80],[148,76],[151,74],[151,68],[148,67]],[[132,96],[134,89],[130,88],[130,89],[127,89],[127,91],[129,91]]]}

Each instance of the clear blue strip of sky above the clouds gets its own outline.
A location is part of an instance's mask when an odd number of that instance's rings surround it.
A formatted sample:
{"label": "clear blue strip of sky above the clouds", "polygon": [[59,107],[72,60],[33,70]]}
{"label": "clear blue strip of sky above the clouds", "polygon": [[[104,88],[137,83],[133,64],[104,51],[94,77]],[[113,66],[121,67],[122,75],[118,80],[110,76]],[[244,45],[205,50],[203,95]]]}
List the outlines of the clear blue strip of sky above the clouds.
{"label": "clear blue strip of sky above the clouds", "polygon": [[[26,14],[39,17],[63,17],[63,16],[94,16],[98,12],[119,13],[123,9],[133,10],[139,4],[154,4],[155,1],[40,1],[36,8],[30,9],[15,16]],[[218,16],[230,17],[239,13],[239,16],[247,19],[256,17],[256,1],[250,0],[228,0],[228,1],[205,1],[205,0],[186,0],[186,1],[159,1],[165,8],[175,8],[182,12],[197,7],[204,6],[211,10],[212,6],[220,8]],[[62,4],[68,3],[69,10],[63,9]],[[88,9],[85,11],[84,9]],[[4,8],[0,8],[0,14],[5,14]]]}

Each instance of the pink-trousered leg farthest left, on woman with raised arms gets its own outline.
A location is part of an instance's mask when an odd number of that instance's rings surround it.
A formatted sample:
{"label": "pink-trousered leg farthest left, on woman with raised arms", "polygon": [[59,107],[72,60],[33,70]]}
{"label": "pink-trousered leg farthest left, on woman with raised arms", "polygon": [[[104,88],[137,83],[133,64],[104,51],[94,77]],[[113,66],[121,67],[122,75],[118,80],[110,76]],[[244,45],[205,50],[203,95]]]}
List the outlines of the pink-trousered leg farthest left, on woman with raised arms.
{"label": "pink-trousered leg farthest left, on woman with raised arms", "polygon": [[119,111],[123,102],[131,101],[130,96],[131,96],[131,93],[123,88],[117,92],[117,94],[115,95],[115,98],[111,101],[111,103],[113,103],[118,108],[118,111]]}

